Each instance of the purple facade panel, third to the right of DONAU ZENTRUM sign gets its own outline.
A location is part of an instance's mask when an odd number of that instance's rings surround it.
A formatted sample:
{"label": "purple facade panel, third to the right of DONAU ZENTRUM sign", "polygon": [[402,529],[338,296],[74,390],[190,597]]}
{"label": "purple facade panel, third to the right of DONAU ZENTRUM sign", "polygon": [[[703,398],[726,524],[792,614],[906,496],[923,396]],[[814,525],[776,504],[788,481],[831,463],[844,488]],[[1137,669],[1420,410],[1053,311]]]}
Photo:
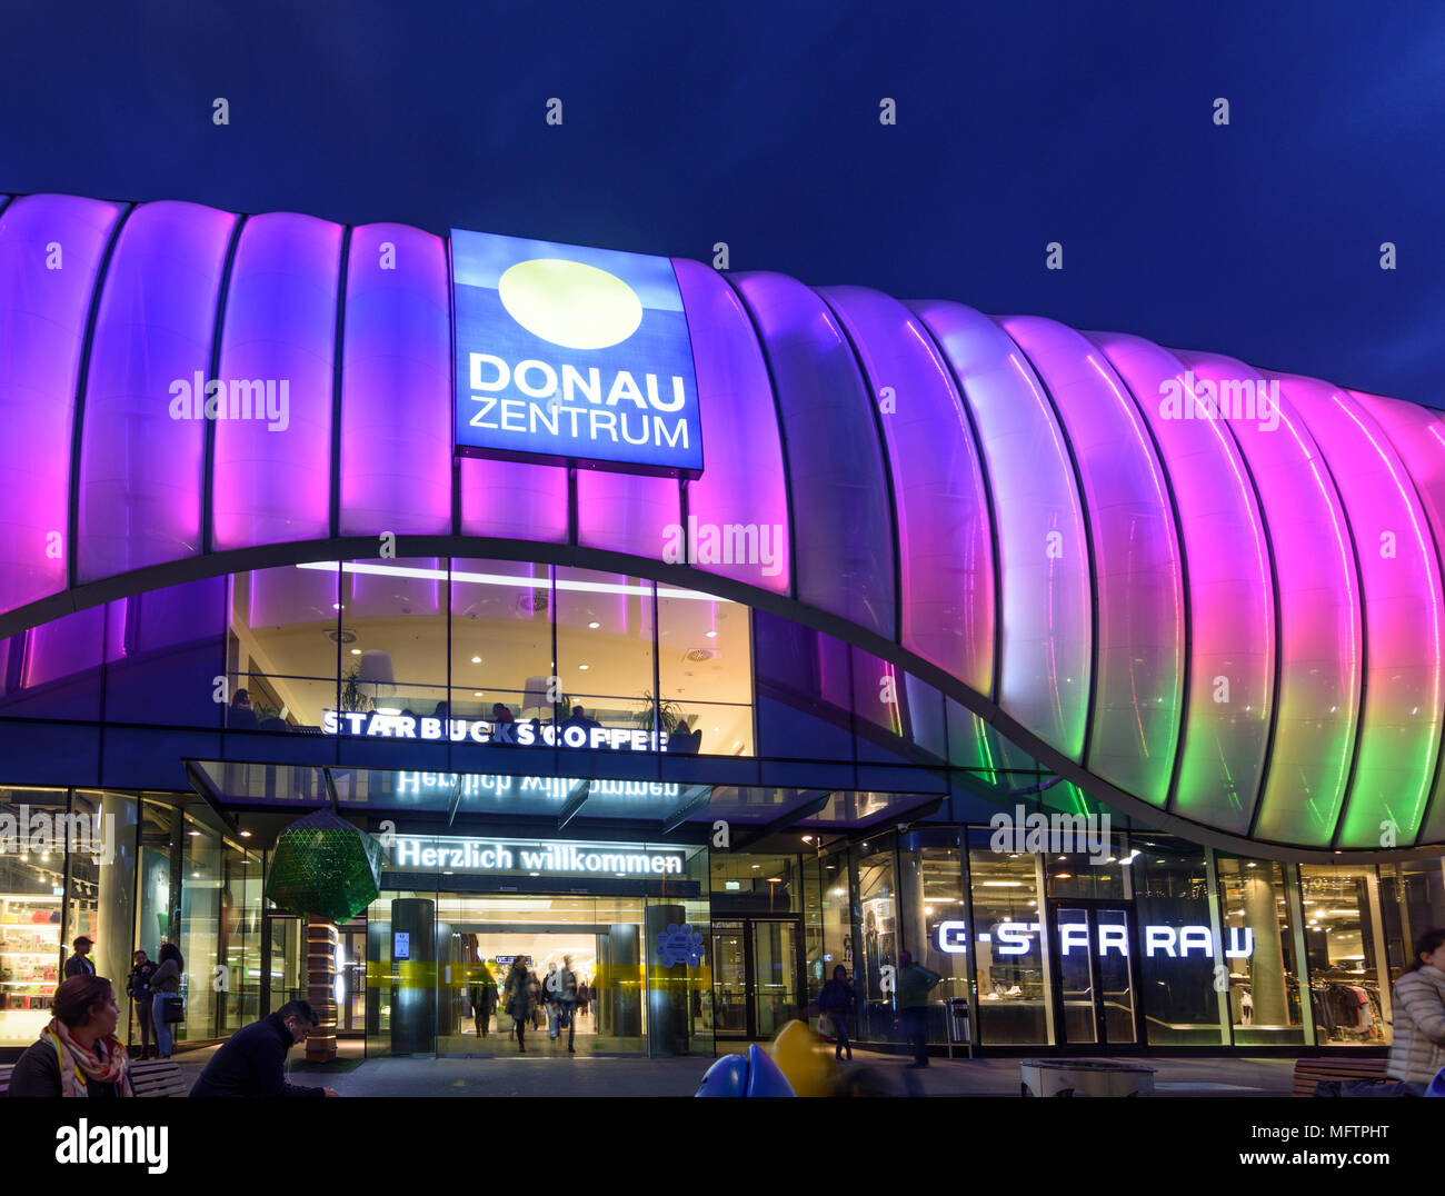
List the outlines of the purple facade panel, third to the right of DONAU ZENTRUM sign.
{"label": "purple facade panel, third to the right of DONAU ZENTRUM sign", "polygon": [[993,688],[994,576],[983,468],[933,341],[896,299],[857,286],[819,292],[880,396],[899,513],[903,647],[980,693]]}

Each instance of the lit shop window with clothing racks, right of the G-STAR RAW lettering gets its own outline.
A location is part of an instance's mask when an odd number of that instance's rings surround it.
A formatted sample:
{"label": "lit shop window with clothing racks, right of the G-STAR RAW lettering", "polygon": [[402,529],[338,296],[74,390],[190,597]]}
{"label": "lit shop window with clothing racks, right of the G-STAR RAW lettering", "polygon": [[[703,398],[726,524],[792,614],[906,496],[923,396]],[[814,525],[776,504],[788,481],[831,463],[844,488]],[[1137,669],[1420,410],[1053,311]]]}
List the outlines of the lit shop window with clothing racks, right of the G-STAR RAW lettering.
{"label": "lit shop window with clothing racks, right of the G-STAR RAW lettering", "polygon": [[1299,878],[1315,1037],[1329,1046],[1381,1046],[1389,988],[1374,868],[1302,864]]}

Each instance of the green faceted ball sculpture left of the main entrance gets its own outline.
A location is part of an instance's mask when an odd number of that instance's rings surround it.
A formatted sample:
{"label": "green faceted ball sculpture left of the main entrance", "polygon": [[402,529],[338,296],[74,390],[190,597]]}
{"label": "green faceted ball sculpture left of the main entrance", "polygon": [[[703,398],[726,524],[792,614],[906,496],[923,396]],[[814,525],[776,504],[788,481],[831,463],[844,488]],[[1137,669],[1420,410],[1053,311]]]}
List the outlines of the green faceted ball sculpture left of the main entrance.
{"label": "green faceted ball sculpture left of the main entrance", "polygon": [[381,845],[331,810],[296,819],[276,838],[266,897],[288,913],[350,922],[381,890]]}

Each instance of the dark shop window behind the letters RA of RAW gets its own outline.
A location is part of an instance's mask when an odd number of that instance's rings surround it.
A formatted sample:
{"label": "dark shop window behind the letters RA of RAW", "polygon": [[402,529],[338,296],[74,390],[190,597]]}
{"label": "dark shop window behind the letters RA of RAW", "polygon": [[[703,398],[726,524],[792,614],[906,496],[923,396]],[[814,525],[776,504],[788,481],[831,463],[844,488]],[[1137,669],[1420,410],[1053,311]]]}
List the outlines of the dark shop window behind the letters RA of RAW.
{"label": "dark shop window behind the letters RA of RAW", "polygon": [[[1131,836],[1130,845],[1139,851],[1129,870],[1140,924],[1140,998],[1149,1044],[1228,1043],[1215,991],[1215,968],[1224,955],[1212,945],[1204,848],[1163,836]],[[1195,946],[1201,930],[1208,935],[1209,949]]]}

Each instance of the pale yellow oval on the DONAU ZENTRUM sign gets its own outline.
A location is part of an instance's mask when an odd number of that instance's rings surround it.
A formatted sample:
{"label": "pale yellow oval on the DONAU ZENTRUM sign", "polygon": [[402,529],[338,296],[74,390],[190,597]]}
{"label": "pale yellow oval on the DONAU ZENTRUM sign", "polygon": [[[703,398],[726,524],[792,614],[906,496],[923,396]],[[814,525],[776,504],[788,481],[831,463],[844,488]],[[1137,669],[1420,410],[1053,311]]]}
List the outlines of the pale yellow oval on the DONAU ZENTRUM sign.
{"label": "pale yellow oval on the DONAU ZENTRUM sign", "polygon": [[637,292],[582,261],[519,261],[497,280],[497,295],[527,332],[564,348],[617,345],[642,324]]}

